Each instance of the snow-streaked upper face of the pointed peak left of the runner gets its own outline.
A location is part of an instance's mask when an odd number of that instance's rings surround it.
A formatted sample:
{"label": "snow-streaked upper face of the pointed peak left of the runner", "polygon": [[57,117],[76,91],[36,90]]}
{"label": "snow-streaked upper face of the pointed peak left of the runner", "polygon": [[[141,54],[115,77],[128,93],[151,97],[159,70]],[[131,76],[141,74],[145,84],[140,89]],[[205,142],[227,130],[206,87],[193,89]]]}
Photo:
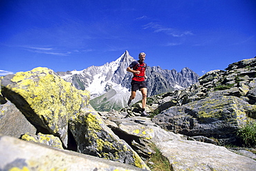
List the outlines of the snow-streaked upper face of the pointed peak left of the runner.
{"label": "snow-streaked upper face of the pointed peak left of the runner", "polygon": [[[135,59],[125,52],[116,61],[103,66],[90,66],[81,71],[57,72],[65,81],[73,83],[77,89],[89,90],[91,98],[98,97],[111,87],[118,86],[127,74],[126,68]],[[128,90],[127,90],[128,91]]]}

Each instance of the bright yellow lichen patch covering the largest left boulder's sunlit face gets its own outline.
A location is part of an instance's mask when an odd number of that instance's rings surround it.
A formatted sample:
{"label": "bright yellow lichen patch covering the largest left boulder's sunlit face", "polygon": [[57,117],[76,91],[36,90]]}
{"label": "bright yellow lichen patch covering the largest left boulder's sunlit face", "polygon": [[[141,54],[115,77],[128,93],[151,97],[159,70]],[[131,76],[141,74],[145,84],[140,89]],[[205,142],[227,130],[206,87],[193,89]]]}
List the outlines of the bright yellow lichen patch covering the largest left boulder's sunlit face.
{"label": "bright yellow lichen patch covering the largest left boulder's sunlit face", "polygon": [[[82,101],[81,97],[89,97],[88,91],[76,90],[71,83],[53,74],[48,68],[17,72],[11,81],[17,84],[11,89],[24,97],[39,115],[51,115],[54,111],[64,116],[68,110],[79,111],[82,102],[84,105],[89,103],[89,98]],[[72,103],[74,99],[78,103]],[[62,105],[65,108],[61,108]]]}

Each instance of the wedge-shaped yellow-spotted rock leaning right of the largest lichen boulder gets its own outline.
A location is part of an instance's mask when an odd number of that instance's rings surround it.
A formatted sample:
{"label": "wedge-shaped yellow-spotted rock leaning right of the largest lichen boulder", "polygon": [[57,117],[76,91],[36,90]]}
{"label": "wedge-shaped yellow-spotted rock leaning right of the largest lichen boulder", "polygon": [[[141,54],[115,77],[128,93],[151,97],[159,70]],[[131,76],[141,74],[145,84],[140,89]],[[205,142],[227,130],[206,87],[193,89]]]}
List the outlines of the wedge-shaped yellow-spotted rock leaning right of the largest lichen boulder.
{"label": "wedge-shaped yellow-spotted rock leaning right of the largest lichen boulder", "polygon": [[77,151],[147,168],[138,154],[104,123],[98,112],[82,110],[70,120],[69,128],[77,142]]}

